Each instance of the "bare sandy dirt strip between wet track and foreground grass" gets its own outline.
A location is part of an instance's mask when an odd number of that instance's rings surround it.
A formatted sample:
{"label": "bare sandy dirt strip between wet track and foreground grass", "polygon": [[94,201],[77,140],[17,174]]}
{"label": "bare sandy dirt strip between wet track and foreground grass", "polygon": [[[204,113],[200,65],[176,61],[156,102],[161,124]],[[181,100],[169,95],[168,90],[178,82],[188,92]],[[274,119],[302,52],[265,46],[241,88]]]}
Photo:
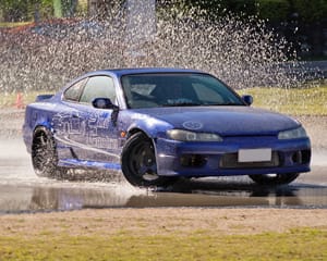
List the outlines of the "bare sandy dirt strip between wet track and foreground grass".
{"label": "bare sandy dirt strip between wet track and foreground grass", "polygon": [[296,209],[106,209],[0,216],[0,235],[66,233],[110,236],[123,232],[165,235],[213,232],[221,235],[327,228],[327,210]]}

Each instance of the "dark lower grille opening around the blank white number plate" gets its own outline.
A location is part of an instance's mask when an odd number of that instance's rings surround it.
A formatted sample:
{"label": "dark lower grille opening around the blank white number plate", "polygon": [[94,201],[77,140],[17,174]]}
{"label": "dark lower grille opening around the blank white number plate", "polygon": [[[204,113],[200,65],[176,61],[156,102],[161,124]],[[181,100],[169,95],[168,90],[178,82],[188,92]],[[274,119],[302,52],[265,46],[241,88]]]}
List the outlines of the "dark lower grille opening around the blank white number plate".
{"label": "dark lower grille opening around the blank white number plate", "polygon": [[280,160],[277,151],[272,151],[271,161],[263,162],[239,162],[238,153],[227,153],[220,158],[220,169],[258,169],[258,167],[274,167],[280,165]]}

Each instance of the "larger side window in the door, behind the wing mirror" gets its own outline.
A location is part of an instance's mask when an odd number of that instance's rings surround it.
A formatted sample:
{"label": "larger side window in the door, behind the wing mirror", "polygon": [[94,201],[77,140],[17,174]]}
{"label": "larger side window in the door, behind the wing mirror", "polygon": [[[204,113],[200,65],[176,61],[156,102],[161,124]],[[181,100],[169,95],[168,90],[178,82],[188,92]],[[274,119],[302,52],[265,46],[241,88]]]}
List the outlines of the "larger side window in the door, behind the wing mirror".
{"label": "larger side window in the door, behind the wing mirror", "polygon": [[108,76],[94,76],[88,79],[80,102],[90,103],[95,98],[109,98],[114,103],[116,91],[112,78]]}

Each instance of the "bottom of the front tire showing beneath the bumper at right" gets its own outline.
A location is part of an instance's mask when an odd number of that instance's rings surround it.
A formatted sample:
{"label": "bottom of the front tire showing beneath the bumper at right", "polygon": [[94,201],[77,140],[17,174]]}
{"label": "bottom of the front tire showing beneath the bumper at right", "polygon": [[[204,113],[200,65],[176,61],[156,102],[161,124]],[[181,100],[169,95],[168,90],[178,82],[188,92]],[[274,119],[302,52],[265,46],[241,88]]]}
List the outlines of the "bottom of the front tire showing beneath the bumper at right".
{"label": "bottom of the front tire showing beneath the bumper at right", "polygon": [[293,182],[299,173],[287,173],[287,174],[265,174],[265,175],[249,175],[252,181],[259,185],[277,186],[286,185]]}

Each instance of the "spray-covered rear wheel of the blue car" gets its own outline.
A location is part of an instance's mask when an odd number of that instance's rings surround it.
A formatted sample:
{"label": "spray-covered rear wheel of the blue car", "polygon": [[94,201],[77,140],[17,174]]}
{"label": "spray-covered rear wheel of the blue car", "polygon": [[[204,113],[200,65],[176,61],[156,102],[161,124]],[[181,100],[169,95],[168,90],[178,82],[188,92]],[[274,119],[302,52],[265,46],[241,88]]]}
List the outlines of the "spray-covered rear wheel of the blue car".
{"label": "spray-covered rear wheel of the blue car", "polygon": [[65,169],[58,166],[56,142],[50,130],[38,127],[32,144],[32,163],[36,175],[61,178]]}

